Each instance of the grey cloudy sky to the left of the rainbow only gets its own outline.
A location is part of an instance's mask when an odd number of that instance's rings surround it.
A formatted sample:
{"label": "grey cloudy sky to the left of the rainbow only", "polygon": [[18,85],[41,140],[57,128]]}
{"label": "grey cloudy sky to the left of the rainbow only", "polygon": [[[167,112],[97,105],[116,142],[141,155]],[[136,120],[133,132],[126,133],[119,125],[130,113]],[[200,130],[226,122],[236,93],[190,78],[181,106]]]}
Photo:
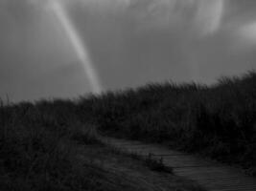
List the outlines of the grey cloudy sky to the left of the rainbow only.
{"label": "grey cloudy sky to the left of the rainbow only", "polygon": [[[89,91],[66,35],[52,15],[31,2],[0,1],[0,96],[17,100]],[[61,72],[70,65],[79,76]]]}

